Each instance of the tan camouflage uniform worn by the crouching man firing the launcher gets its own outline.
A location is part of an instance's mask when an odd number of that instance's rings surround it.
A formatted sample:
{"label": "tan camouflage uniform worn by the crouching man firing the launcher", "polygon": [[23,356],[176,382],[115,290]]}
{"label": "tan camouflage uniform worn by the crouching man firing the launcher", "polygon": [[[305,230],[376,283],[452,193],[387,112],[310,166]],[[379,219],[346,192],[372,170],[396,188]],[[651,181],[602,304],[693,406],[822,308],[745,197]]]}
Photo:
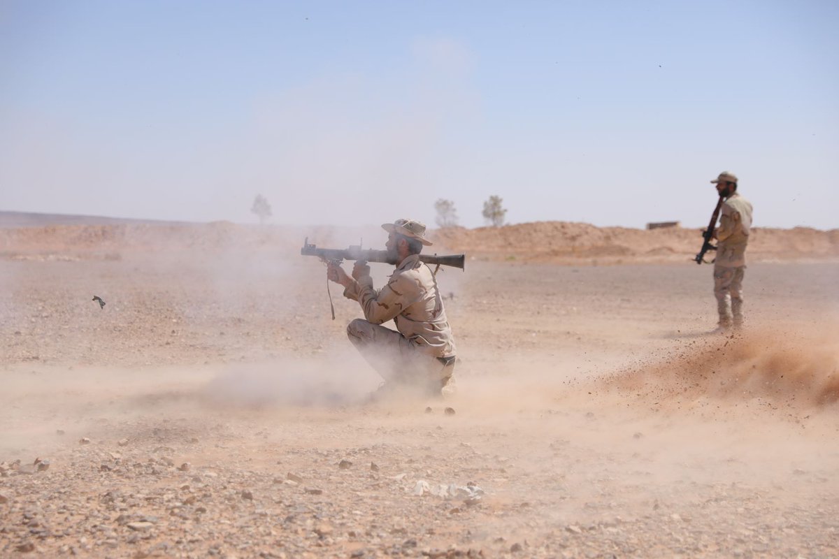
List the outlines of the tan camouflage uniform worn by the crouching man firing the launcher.
{"label": "tan camouflage uniform worn by the crouching man firing the launcher", "polygon": [[[455,342],[436,278],[420,256],[406,257],[381,289],[366,276],[344,296],[364,312],[349,323],[347,336],[379,375],[440,394],[454,373]],[[390,319],[399,331],[382,326]]]}

